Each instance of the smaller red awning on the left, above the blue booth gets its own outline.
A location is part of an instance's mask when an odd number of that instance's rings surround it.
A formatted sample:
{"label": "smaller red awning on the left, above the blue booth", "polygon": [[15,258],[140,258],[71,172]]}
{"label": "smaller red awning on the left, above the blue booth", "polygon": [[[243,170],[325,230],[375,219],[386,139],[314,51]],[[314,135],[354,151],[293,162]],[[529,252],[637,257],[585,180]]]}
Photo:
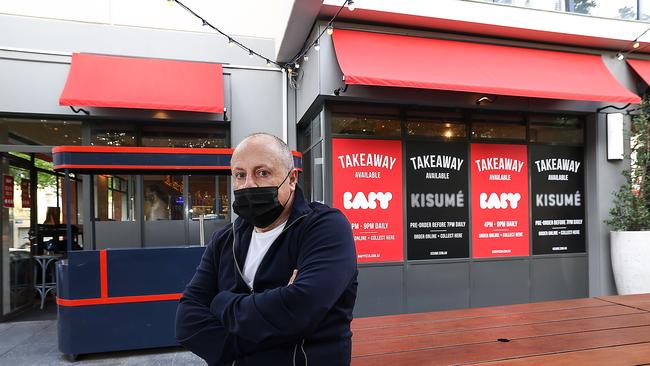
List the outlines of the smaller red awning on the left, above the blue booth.
{"label": "smaller red awning on the left, above the blue booth", "polygon": [[223,113],[220,64],[74,53],[60,105]]}

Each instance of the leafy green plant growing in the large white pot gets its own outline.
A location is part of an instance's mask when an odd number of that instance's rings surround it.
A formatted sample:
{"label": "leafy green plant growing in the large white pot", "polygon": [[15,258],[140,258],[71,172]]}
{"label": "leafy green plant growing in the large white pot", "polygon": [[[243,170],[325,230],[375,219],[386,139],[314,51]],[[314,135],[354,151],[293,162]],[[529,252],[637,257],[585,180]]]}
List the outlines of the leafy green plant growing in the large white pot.
{"label": "leafy green plant growing in the large white pot", "polygon": [[630,125],[630,169],[614,193],[614,206],[605,223],[616,231],[650,230],[650,97],[645,96]]}

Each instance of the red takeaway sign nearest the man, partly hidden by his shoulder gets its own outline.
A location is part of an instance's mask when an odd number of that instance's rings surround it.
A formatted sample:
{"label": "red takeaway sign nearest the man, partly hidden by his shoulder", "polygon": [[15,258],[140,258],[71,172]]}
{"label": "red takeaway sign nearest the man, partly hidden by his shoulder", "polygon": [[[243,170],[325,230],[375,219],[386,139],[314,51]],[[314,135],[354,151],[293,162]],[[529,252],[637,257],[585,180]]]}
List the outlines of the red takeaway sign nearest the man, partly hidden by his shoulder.
{"label": "red takeaway sign nearest the man, partly hidden by his shoulder", "polygon": [[333,202],[352,224],[357,259],[404,259],[402,143],[332,139]]}

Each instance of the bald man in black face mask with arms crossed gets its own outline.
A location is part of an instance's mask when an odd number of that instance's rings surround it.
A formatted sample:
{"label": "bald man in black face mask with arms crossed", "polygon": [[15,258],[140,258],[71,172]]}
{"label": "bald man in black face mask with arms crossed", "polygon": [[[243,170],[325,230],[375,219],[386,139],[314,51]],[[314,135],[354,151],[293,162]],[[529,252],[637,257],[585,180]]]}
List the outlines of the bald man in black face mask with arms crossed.
{"label": "bald man in black face mask with arms crossed", "polygon": [[350,223],[308,204],[287,145],[258,133],[232,159],[233,210],[180,300],[176,339],[209,365],[348,365],[356,299]]}

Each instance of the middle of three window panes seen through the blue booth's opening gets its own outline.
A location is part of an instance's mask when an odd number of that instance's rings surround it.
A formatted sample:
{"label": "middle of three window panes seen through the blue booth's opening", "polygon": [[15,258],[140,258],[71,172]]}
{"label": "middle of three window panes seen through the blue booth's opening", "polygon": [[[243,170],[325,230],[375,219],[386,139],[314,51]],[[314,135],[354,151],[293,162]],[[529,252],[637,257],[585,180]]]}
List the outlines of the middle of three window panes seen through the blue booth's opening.
{"label": "middle of three window panes seen through the blue booth's opening", "polygon": [[183,176],[145,175],[144,219],[183,220]]}

